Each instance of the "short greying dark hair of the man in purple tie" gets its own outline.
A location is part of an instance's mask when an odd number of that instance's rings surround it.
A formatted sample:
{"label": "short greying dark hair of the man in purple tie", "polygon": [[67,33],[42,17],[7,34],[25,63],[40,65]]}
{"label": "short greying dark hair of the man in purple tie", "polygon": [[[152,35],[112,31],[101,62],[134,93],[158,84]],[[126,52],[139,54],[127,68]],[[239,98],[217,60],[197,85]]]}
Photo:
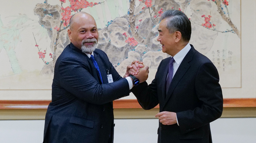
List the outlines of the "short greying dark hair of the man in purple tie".
{"label": "short greying dark hair of the man in purple tie", "polygon": [[180,31],[181,37],[184,41],[189,41],[191,37],[191,22],[189,18],[181,11],[168,10],[165,11],[160,20],[166,19],[166,28],[170,33]]}

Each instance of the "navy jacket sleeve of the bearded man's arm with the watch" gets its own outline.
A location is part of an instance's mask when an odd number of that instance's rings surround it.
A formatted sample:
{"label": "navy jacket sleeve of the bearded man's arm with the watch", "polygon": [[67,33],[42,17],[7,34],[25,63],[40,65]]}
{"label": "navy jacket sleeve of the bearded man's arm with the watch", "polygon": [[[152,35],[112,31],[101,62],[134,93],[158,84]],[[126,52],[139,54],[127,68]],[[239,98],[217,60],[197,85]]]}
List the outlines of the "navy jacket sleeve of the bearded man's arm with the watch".
{"label": "navy jacket sleeve of the bearded man's arm with the watch", "polygon": [[75,60],[62,60],[57,70],[61,87],[92,104],[105,104],[130,93],[128,81],[117,72],[113,83],[99,84],[87,68]]}

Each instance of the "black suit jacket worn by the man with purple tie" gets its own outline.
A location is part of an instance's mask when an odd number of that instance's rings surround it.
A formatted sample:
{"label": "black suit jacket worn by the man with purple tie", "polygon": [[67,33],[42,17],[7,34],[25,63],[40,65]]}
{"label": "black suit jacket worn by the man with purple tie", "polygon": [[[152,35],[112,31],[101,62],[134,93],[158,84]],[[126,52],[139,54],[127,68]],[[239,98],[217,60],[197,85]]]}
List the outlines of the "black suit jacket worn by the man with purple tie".
{"label": "black suit jacket worn by the man with purple tie", "polygon": [[160,112],[177,113],[179,126],[159,122],[158,143],[211,143],[209,123],[219,118],[223,110],[218,71],[191,45],[166,94],[170,58],[161,61],[151,84],[143,82],[132,92],[144,109],[159,104]]}

